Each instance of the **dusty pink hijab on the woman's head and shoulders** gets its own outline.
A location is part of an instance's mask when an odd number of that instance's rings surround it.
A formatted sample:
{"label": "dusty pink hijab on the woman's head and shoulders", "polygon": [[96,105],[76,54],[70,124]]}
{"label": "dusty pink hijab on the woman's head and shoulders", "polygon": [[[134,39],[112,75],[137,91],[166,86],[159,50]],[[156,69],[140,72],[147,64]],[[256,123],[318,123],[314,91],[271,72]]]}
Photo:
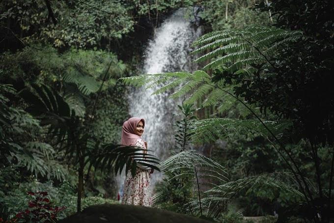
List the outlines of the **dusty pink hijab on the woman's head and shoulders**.
{"label": "dusty pink hijab on the woman's head and shoulders", "polygon": [[123,123],[121,140],[122,145],[130,146],[133,142],[137,141],[137,139],[141,139],[139,135],[135,134],[135,128],[140,121],[142,121],[145,126],[145,120],[138,117],[132,117]]}

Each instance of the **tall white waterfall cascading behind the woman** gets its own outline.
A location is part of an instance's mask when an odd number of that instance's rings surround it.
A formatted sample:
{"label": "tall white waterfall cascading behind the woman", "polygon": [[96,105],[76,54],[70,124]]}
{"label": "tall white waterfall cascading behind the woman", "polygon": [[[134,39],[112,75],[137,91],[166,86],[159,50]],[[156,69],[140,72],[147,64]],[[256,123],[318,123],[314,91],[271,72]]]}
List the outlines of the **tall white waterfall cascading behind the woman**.
{"label": "tall white waterfall cascading behind the woman", "polygon": [[[193,71],[191,64],[192,42],[199,36],[200,29],[194,29],[192,23],[184,19],[183,9],[177,10],[156,30],[155,36],[148,42],[144,54],[142,73],[154,74],[173,71]],[[173,114],[177,113],[180,102],[169,99],[168,94],[152,95],[155,89],[132,88],[129,95],[130,115],[145,119],[142,136],[148,149],[164,160],[174,147]],[[161,179],[160,173],[151,175],[151,189]],[[123,183],[124,178],[120,179]]]}

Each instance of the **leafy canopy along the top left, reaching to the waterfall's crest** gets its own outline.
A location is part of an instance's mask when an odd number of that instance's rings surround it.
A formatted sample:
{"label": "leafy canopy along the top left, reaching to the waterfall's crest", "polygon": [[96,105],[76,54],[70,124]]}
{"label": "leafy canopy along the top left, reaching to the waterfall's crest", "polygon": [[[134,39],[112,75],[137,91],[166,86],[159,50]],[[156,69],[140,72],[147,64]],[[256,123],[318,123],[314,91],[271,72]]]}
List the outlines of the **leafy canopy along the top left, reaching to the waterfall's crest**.
{"label": "leafy canopy along the top left, reaching to the waterfall's crest", "polygon": [[155,19],[157,25],[160,15],[180,6],[191,6],[195,0],[49,2],[55,21],[45,1],[17,0],[1,4],[0,24],[6,27],[5,41],[21,46],[37,40],[56,48],[111,48],[115,41],[134,31],[140,18],[147,19],[147,23]]}

